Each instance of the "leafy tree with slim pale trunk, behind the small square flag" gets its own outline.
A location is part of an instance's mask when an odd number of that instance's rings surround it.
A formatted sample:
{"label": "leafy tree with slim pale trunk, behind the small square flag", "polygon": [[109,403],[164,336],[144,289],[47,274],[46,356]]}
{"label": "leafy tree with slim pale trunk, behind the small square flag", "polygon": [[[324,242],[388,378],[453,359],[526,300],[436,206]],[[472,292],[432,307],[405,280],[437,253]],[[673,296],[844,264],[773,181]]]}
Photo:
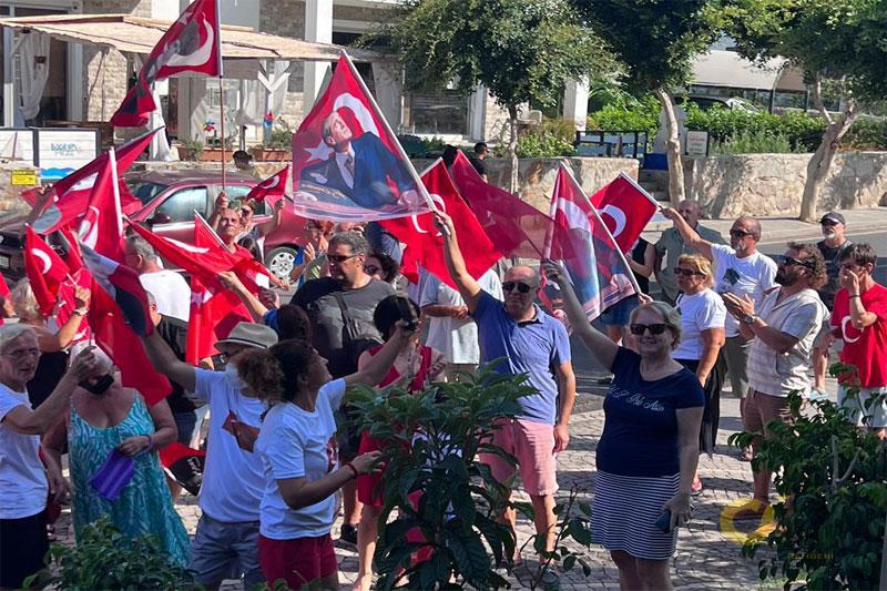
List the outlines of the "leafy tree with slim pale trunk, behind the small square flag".
{"label": "leafy tree with slim pale trunk, behind the small square flag", "polygon": [[624,68],[638,95],[652,92],[665,112],[669,194],[684,198],[684,171],[671,90],[687,83],[693,58],[715,39],[713,0],[573,0]]}

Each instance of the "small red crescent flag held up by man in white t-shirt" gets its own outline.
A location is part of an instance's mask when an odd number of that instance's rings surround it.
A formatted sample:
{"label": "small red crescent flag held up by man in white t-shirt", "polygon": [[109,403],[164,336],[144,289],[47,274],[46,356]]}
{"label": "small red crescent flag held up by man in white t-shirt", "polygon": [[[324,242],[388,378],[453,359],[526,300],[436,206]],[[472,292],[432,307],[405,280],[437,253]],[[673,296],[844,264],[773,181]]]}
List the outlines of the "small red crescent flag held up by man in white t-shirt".
{"label": "small red crescent flag held up by man in white t-shirt", "polygon": [[634,247],[659,210],[655,200],[625,173],[589,198],[623,253]]}

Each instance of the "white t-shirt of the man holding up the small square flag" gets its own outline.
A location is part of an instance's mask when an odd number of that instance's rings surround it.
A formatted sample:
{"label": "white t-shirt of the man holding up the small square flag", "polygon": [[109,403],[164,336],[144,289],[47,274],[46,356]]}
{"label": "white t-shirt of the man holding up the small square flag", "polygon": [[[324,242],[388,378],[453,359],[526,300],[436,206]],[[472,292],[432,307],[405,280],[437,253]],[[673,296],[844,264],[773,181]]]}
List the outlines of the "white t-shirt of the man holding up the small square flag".
{"label": "white t-shirt of the man holding up the small square flag", "polygon": [[[714,257],[714,291],[718,294],[733,294],[742,298],[745,294],[759,305],[764,292],[776,287],[776,262],[765,254],[755,253],[744,258],[736,256],[736,251],[724,244],[712,244]],[[726,336],[740,334],[740,320],[732,314],[725,324]]]}

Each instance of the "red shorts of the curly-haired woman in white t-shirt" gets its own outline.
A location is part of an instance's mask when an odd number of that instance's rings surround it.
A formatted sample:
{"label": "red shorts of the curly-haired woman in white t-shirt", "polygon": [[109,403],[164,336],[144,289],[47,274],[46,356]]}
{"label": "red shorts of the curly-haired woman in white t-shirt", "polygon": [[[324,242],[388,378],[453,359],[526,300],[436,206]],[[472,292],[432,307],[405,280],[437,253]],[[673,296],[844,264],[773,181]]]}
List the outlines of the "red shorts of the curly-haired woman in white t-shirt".
{"label": "red shorts of the curly-haired woman in white t-shirt", "polygon": [[258,536],[258,562],[268,587],[283,579],[289,589],[336,572],[336,551],[329,533],[319,538],[272,540]]}

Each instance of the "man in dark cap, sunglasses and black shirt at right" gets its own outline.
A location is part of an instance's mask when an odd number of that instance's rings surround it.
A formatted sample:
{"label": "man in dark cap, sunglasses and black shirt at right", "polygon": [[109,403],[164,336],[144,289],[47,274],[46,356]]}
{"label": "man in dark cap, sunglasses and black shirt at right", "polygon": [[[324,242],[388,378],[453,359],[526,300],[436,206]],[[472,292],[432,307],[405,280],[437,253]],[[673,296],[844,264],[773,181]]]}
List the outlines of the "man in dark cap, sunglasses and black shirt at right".
{"label": "man in dark cap, sunglasses and black shirt at right", "polygon": [[[835,307],[835,294],[840,289],[838,275],[840,274],[840,258],[844,252],[853,244],[844,237],[846,222],[838,212],[828,212],[819,220],[823,228],[823,238],[816,243],[816,247],[823,254],[825,268],[828,273],[828,281],[817,292],[819,299],[829,312]],[[816,336],[813,350],[813,390],[810,400],[828,398],[825,390],[825,369],[828,365],[828,348],[832,344],[832,333],[828,325],[823,326]]]}

